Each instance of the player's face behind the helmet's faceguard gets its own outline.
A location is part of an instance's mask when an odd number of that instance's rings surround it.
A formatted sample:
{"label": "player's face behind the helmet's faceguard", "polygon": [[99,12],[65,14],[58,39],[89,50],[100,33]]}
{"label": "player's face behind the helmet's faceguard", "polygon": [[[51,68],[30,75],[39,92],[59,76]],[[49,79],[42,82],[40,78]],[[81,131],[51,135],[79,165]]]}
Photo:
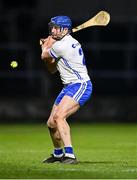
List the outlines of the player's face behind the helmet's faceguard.
{"label": "player's face behind the helmet's faceguard", "polygon": [[58,26],[53,26],[51,28],[51,35],[54,39],[61,39],[64,35],[66,35],[68,32],[67,28],[61,29]]}

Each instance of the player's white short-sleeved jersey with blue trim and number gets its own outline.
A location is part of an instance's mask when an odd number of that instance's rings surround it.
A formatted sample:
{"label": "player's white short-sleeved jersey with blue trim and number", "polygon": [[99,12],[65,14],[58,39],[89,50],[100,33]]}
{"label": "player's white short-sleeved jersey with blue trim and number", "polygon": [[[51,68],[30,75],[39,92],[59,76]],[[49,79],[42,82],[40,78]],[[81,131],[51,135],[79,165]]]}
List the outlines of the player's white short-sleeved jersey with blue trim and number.
{"label": "player's white short-sleeved jersey with blue trim and number", "polygon": [[57,61],[63,84],[90,80],[81,45],[71,35],[55,42],[49,53]]}

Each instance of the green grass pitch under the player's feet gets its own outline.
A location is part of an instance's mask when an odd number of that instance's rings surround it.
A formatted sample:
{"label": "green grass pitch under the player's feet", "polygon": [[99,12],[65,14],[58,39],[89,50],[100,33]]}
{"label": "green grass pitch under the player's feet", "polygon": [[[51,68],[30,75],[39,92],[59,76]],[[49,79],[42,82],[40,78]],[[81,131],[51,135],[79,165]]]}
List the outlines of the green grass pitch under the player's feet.
{"label": "green grass pitch under the player's feet", "polygon": [[0,125],[0,178],[137,178],[137,124],[72,124],[78,165],[42,164],[46,125]]}

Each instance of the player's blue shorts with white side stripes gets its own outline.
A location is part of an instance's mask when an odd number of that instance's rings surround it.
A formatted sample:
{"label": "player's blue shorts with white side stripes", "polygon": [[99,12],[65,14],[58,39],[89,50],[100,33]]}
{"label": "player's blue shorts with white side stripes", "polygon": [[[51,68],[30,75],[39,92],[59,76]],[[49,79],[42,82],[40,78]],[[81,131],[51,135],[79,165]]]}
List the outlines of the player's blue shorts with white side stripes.
{"label": "player's blue shorts with white side stripes", "polygon": [[72,83],[62,89],[55,100],[55,104],[58,105],[64,96],[70,96],[82,106],[90,98],[91,94],[92,83],[90,80],[82,83]]}

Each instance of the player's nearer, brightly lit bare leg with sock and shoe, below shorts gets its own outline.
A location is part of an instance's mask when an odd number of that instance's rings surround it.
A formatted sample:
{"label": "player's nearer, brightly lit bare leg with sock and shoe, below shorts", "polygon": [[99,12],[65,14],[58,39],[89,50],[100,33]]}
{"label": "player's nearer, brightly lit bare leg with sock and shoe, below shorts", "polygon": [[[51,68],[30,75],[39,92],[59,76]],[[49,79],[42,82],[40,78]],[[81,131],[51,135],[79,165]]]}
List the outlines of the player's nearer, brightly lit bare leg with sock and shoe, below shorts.
{"label": "player's nearer, brightly lit bare leg with sock and shoe, below shorts", "polygon": [[72,148],[70,127],[66,121],[66,118],[74,114],[79,108],[79,103],[76,102],[72,97],[64,96],[61,102],[59,103],[58,109],[53,117],[54,121],[57,124],[60,137],[64,144],[65,156],[62,158],[63,163],[77,163]]}

